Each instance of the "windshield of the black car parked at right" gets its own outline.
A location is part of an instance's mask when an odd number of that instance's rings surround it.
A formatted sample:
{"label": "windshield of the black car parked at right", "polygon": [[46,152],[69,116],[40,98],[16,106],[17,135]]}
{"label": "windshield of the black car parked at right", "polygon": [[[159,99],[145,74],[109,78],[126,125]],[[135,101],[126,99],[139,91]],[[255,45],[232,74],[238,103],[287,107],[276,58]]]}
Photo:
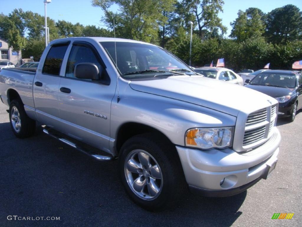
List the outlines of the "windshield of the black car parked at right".
{"label": "windshield of the black car parked at right", "polygon": [[297,79],[295,74],[261,73],[256,76],[250,84],[294,88],[297,85]]}

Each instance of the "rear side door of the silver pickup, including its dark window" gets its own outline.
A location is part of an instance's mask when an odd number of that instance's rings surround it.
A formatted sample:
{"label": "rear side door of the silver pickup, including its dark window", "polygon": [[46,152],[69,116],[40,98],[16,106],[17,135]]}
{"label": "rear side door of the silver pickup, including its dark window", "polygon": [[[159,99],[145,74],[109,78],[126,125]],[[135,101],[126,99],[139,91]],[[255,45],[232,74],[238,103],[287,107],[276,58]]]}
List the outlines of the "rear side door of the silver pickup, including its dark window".
{"label": "rear side door of the silver pickup, including its dark window", "polygon": [[39,65],[34,78],[33,95],[38,120],[57,128],[59,123],[60,70],[69,42],[53,44],[47,53],[43,67]]}

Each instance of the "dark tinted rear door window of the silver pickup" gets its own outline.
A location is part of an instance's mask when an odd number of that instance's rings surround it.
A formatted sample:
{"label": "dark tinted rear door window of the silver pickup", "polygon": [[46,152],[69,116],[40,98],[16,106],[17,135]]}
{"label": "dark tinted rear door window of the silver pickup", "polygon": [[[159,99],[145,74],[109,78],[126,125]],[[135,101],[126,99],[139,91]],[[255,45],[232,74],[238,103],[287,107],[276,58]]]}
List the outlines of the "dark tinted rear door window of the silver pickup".
{"label": "dark tinted rear door window of the silver pickup", "polygon": [[59,75],[64,54],[69,44],[53,45],[47,54],[42,73]]}

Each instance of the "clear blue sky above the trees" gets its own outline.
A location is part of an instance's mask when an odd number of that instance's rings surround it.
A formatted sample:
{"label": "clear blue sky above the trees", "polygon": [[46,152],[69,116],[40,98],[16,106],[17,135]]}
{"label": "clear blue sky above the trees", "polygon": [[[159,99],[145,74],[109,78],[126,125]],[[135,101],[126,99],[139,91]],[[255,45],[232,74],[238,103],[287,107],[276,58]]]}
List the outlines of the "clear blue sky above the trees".
{"label": "clear blue sky above the trees", "polygon": [[[0,12],[8,15],[14,8],[22,8],[24,11],[30,10],[44,15],[43,0],[1,0]],[[239,9],[245,11],[249,7],[260,8],[267,13],[271,10],[283,5],[293,4],[300,10],[302,9],[302,0],[225,0],[223,5],[223,13],[219,14],[222,18],[223,25],[227,26],[227,35],[230,35],[230,22],[237,18]],[[114,7],[117,10],[117,7]],[[100,22],[103,12],[99,7],[93,7],[90,0],[52,0],[47,5],[47,16],[58,21],[70,21],[73,24],[79,22],[82,25],[103,25]]]}

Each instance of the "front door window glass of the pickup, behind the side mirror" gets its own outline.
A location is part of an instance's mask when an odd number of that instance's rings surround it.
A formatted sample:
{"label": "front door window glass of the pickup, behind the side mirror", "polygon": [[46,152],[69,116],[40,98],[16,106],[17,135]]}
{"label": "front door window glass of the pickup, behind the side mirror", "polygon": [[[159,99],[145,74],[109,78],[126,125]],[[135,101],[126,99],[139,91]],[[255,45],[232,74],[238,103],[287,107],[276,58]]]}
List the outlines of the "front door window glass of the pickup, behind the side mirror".
{"label": "front door window glass of the pickup, behind the side mirror", "polygon": [[94,52],[89,47],[82,45],[73,45],[69,54],[65,76],[76,78],[74,75],[75,67],[77,64],[84,62],[95,64],[98,67],[99,71],[101,71],[101,64],[95,56]]}

